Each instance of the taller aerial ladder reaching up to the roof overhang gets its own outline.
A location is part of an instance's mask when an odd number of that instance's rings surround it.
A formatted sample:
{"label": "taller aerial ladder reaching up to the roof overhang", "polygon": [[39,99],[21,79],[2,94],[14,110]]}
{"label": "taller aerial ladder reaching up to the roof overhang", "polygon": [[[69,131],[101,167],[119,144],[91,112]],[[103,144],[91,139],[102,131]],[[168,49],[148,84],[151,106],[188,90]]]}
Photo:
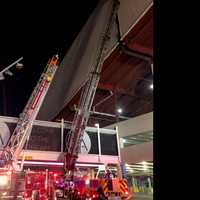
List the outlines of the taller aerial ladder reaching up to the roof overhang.
{"label": "taller aerial ladder reaching up to the roof overhang", "polygon": [[101,41],[97,49],[96,61],[82,90],[79,106],[72,123],[72,128],[70,130],[68,140],[66,141],[67,153],[65,154],[64,168],[65,171],[72,176],[72,178],[73,170],[75,169],[75,162],[78,158],[80,143],[82,141],[84,130],[89,119],[94,95],[100,80],[101,69],[106,56],[108,41],[110,39],[111,28],[116,19],[115,17],[118,7],[119,1],[113,0],[111,12],[108,17],[108,23],[104,33],[102,34],[102,37],[100,38]]}

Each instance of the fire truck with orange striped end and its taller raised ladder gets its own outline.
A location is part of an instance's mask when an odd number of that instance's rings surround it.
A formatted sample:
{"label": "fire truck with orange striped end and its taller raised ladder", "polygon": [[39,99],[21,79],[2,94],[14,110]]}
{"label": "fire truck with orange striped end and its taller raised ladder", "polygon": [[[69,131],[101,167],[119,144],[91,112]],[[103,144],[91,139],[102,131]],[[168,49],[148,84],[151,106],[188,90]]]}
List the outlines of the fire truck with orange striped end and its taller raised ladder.
{"label": "fire truck with orange striped end and its taller raised ladder", "polygon": [[[67,199],[79,199],[80,195],[83,199],[98,199],[97,190],[100,187],[104,187],[103,192],[107,198],[111,197],[112,195],[125,198],[129,195],[127,181],[119,178],[110,180],[85,180],[85,183],[83,180],[79,180],[79,182],[76,183],[74,177],[75,163],[78,158],[78,153],[80,152],[80,144],[82,142],[84,130],[90,116],[90,110],[100,80],[102,66],[107,55],[107,47],[111,37],[111,30],[113,25],[116,23],[118,8],[119,1],[112,0],[108,21],[107,24],[105,24],[105,29],[102,32],[102,37],[100,38],[101,41],[99,43],[100,45],[97,48],[96,60],[91,68],[89,77],[82,88],[79,105],[72,122],[69,137],[66,141],[67,148],[64,157],[65,182],[74,183],[73,187],[68,186],[64,188],[63,193],[64,195],[66,194]],[[123,189],[120,188],[121,185],[122,188],[124,185]],[[106,191],[105,188],[108,190]],[[74,192],[72,192],[72,189]],[[71,193],[74,194],[74,197],[70,196]]]}

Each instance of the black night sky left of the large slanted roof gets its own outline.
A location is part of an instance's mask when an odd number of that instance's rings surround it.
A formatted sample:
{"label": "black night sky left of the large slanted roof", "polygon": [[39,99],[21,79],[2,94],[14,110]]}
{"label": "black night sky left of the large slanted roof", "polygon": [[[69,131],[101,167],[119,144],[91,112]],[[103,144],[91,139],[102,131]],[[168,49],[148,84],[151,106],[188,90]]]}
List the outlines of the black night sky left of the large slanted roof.
{"label": "black night sky left of the large slanted roof", "polygon": [[0,70],[24,57],[24,68],[0,81],[0,115],[22,112],[48,58],[63,58],[98,0],[33,2],[0,3]]}

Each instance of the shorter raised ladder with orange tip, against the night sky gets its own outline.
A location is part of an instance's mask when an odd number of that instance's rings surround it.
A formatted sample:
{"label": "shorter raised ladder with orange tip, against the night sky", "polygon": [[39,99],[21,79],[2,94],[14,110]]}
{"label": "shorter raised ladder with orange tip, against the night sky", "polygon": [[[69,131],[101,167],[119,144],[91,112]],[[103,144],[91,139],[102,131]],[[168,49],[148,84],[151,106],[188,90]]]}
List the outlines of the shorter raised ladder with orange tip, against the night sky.
{"label": "shorter raised ladder with orange tip, against the night sky", "polygon": [[2,152],[4,164],[17,169],[17,160],[23,150],[25,143],[29,140],[33,122],[37,117],[43,100],[48,92],[49,86],[58,68],[58,55],[49,59],[28,103],[19,117],[17,126]]}

